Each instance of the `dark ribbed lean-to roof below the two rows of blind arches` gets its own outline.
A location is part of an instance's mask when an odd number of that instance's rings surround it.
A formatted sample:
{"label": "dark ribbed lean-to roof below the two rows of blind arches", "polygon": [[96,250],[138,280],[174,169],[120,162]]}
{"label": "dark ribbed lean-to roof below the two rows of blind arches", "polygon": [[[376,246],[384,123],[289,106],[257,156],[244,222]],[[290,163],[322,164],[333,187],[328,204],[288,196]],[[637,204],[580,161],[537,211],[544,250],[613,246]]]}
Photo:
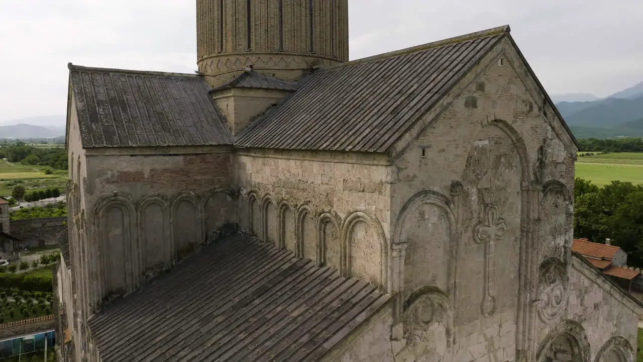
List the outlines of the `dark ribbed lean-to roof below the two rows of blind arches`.
{"label": "dark ribbed lean-to roof below the two rows of blind arches", "polygon": [[234,234],[114,301],[89,328],[104,362],[315,361],[388,299]]}

